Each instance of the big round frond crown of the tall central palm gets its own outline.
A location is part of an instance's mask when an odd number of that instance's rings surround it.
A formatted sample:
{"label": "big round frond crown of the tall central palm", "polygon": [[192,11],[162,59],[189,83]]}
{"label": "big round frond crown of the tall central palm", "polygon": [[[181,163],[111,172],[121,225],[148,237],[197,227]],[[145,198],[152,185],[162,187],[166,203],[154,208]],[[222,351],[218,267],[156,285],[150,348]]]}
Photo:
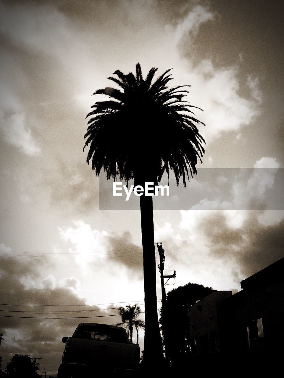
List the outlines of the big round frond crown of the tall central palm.
{"label": "big round frond crown of the tall central palm", "polygon": [[[181,85],[169,88],[170,70],[153,81],[158,68],[151,68],[143,79],[140,64],[136,76],[114,71],[118,79],[108,77],[120,88],[98,89],[93,95],[107,95],[108,101],[97,101],[87,117],[89,127],[85,146],[89,146],[87,164],[98,176],[103,168],[106,177],[126,183],[145,172],[159,182],[164,172],[173,170],[176,183],[196,174],[198,158],[201,161],[204,139],[195,124],[196,108],[183,98],[189,91]],[[203,124],[204,125],[204,124]],[[141,172],[142,171],[142,172]]]}

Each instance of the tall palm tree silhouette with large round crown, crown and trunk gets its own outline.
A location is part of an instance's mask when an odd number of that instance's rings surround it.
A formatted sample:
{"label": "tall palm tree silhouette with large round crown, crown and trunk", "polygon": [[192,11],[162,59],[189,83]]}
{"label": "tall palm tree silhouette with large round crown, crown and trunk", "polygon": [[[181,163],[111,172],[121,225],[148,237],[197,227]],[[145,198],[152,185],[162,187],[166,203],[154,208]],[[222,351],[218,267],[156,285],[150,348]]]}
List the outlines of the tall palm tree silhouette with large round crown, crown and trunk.
{"label": "tall palm tree silhouette with large round crown, crown and trunk", "polygon": [[[108,180],[116,181],[119,176],[126,184],[134,179],[135,186],[145,187],[145,182],[158,184],[164,172],[169,178],[173,170],[176,184],[182,177],[186,186],[189,171],[191,177],[197,173],[195,166],[203,156],[204,139],[195,124],[203,122],[190,110],[196,107],[183,100],[188,93],[184,87],[190,85],[168,88],[170,70],[154,81],[157,70],[151,68],[146,79],[139,63],[136,75],[116,70],[118,79],[108,79],[120,89],[107,87],[93,93],[110,98],[97,101],[87,115],[91,119],[84,148],[89,146],[87,164],[91,161],[97,176],[103,168]],[[144,362],[157,366],[164,356],[157,312],[153,197],[139,198],[145,291]]]}

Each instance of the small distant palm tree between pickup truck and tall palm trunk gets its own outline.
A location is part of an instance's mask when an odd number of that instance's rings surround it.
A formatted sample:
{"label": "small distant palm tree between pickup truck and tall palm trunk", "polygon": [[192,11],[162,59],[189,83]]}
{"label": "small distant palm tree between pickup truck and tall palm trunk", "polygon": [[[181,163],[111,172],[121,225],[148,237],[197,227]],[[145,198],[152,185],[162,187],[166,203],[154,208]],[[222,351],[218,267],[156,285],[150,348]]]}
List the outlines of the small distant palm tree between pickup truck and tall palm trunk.
{"label": "small distant palm tree between pickup truck and tall palm trunk", "polygon": [[137,319],[138,316],[141,313],[141,309],[136,303],[135,305],[127,305],[126,307],[120,307],[117,309],[118,313],[121,316],[121,323],[116,323],[115,325],[121,327],[122,325],[126,324],[126,332],[129,338],[129,341],[131,344],[133,344],[132,339],[133,339],[133,326],[136,329],[136,334],[137,334],[137,339],[136,339],[136,344],[138,344],[138,328],[144,328],[145,327],[145,322],[141,319]]}

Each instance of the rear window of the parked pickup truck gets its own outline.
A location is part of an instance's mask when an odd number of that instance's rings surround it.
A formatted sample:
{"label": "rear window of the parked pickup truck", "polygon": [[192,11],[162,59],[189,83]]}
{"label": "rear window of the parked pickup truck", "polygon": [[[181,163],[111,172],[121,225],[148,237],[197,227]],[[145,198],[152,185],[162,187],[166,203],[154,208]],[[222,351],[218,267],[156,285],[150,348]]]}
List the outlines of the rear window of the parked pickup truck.
{"label": "rear window of the parked pickup truck", "polygon": [[100,328],[94,325],[82,325],[73,336],[76,339],[101,340],[128,343],[123,330],[117,328]]}

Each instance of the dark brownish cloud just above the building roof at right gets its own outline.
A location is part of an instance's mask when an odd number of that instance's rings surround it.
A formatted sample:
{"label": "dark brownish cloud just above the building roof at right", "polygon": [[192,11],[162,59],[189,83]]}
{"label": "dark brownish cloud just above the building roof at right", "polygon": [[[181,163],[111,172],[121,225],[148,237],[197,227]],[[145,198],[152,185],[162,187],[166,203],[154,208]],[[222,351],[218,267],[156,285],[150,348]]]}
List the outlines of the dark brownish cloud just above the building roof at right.
{"label": "dark brownish cloud just above the building roof at right", "polygon": [[232,274],[247,277],[284,256],[284,220],[264,226],[257,219],[259,213],[251,213],[242,227],[233,229],[226,223],[224,214],[212,215],[201,226],[209,239],[211,253],[217,259],[232,261]]}

